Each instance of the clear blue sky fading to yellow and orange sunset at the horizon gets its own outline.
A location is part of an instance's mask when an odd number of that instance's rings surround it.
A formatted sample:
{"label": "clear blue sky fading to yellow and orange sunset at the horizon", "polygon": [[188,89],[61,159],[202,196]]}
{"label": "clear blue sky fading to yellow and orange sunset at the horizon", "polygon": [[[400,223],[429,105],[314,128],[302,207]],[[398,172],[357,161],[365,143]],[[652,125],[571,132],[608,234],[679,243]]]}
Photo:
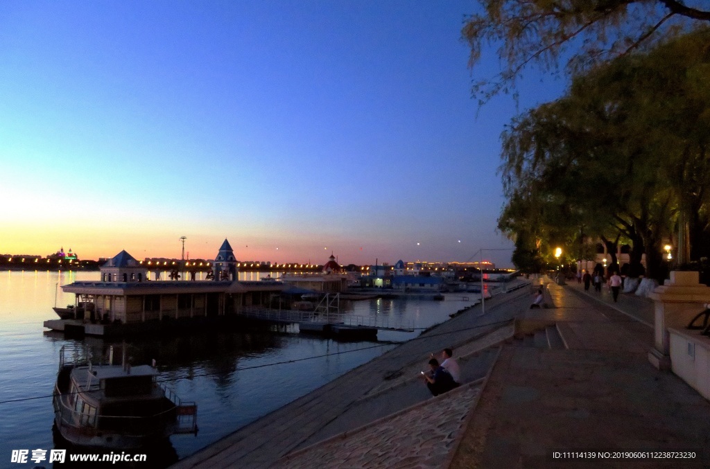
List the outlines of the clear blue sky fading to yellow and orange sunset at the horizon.
{"label": "clear blue sky fading to yellow and orange sunset at the horizon", "polygon": [[0,253],[512,266],[501,131],[564,83],[479,108],[477,8],[1,2]]}

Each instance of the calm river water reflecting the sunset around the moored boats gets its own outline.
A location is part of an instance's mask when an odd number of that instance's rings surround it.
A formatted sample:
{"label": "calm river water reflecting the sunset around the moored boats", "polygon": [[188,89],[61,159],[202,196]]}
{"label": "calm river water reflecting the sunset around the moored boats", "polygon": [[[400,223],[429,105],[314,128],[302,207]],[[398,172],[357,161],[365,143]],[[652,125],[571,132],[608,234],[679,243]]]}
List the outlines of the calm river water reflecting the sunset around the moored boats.
{"label": "calm river water reflecting the sunset around the moored boats", "polygon": [[[58,286],[98,278],[99,272],[0,272],[0,468],[35,467],[30,461],[11,463],[12,450],[64,448],[60,441],[55,446],[53,440],[54,414],[50,397],[60,348],[66,343],[104,346],[108,342],[96,338],[66,339],[62,333],[45,332],[42,324],[46,319],[56,318],[52,310],[55,301],[62,307],[74,303],[74,295],[63,294]],[[240,280],[256,279],[240,276]],[[444,302],[371,299],[342,302],[341,307],[345,314],[386,316],[392,322],[425,328],[449,319],[449,314],[474,304],[476,299],[477,294],[462,293],[451,294]],[[416,335],[418,332],[381,332],[378,338],[402,341]],[[141,364],[138,363],[141,359],[148,363],[155,358],[159,379],[182,400],[197,402],[200,427],[197,436],[172,436],[171,447],[162,448],[159,456],[149,455],[151,460],[147,464],[136,465],[141,468],[165,467],[176,458],[195,453],[393,347],[391,343],[338,342],[297,333],[264,331],[215,331],[175,338],[141,338],[131,341],[131,346],[138,357],[134,357],[133,364]],[[318,355],[329,356],[276,364]],[[270,366],[253,368],[258,365]],[[28,397],[39,398],[6,402]],[[69,451],[90,452],[72,448]],[[47,461],[39,465],[52,466]],[[84,463],[81,467],[89,465]],[[56,468],[67,466],[55,465]]]}

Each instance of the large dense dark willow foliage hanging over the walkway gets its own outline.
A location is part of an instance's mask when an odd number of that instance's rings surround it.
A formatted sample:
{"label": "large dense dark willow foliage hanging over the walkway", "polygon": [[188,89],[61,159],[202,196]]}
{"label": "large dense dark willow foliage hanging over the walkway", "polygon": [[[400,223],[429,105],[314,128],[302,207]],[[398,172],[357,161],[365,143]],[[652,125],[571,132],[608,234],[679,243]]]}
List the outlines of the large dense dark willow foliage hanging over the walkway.
{"label": "large dense dark willow foliage hanging over the walkway", "polygon": [[[633,245],[651,275],[675,224],[710,235],[710,28],[619,57],[503,133],[498,228],[537,243]],[[682,216],[684,215],[684,216]],[[573,241],[573,240],[577,241]],[[700,247],[700,248],[698,248]],[[705,248],[707,249],[707,248]]]}

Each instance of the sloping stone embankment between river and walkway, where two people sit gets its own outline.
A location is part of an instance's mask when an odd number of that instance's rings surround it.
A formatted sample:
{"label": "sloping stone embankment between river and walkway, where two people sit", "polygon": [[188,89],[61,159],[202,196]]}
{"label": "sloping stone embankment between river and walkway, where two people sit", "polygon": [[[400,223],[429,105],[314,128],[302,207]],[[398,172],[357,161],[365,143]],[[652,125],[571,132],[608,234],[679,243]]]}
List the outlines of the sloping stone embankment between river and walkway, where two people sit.
{"label": "sloping stone embankment between river and walkway, where two people sit", "polygon": [[[480,306],[472,307],[174,467],[312,467],[322,448],[338,455],[331,460],[334,466],[354,467],[364,463],[362,458],[374,465],[403,465],[416,458],[437,466],[442,457],[453,456],[464,435],[466,418],[498,355],[491,345],[512,336],[510,319],[529,303],[528,289],[493,297],[484,316]],[[432,398],[420,370],[427,368],[430,353],[445,347],[460,357],[464,385]],[[375,440],[381,446],[363,456]],[[343,442],[349,443],[340,448]]]}

